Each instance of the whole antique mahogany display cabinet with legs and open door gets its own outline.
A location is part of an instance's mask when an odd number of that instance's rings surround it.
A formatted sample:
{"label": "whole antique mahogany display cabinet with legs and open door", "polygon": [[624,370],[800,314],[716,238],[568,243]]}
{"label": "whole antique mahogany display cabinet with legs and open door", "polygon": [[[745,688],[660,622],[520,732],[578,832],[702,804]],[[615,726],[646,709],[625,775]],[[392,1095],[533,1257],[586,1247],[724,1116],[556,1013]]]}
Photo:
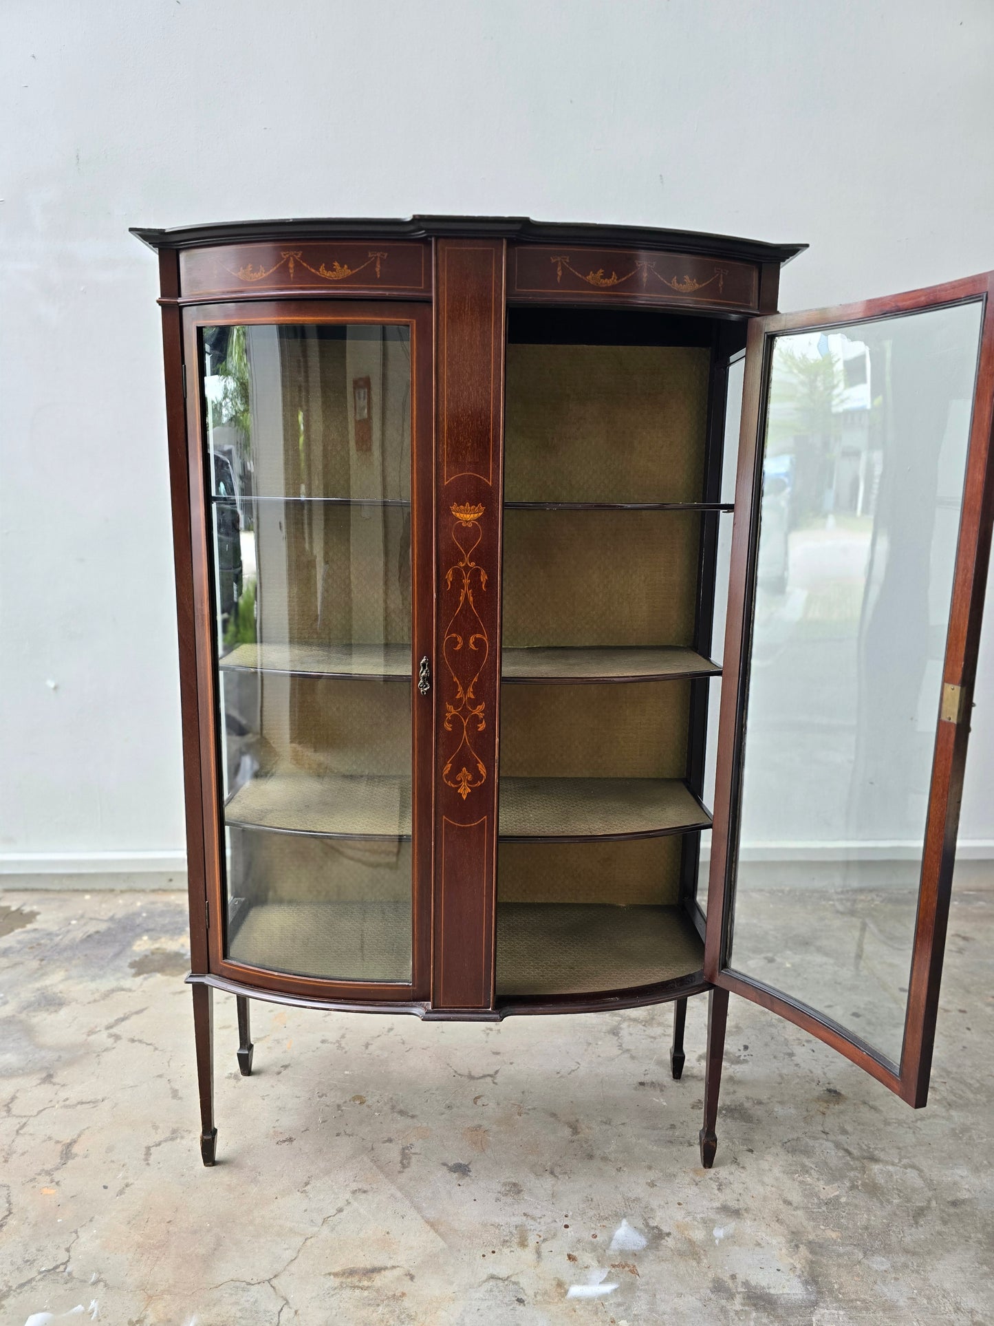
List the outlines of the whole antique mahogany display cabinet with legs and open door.
{"label": "whole antique mahogany display cabinet with legs and open door", "polygon": [[[166,353],[201,1154],[212,993],[730,991],[928,1093],[991,533],[987,276],[508,219],[135,233]],[[558,1024],[550,1024],[551,1026]]]}

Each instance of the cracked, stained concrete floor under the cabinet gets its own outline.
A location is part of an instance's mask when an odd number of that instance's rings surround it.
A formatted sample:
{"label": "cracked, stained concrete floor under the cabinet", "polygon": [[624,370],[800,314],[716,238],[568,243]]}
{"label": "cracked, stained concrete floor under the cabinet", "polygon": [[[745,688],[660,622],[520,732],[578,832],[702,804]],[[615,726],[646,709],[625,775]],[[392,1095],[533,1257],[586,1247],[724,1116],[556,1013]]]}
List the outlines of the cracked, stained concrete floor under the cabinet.
{"label": "cracked, stained concrete floor under the cabinet", "polygon": [[[733,998],[421,1024],[216,996],[197,1148],[179,894],[0,895],[0,1322],[994,1321],[994,891],[956,896],[932,1102]],[[76,1310],[76,1311],[74,1311]],[[50,1317],[46,1314],[52,1314]]]}

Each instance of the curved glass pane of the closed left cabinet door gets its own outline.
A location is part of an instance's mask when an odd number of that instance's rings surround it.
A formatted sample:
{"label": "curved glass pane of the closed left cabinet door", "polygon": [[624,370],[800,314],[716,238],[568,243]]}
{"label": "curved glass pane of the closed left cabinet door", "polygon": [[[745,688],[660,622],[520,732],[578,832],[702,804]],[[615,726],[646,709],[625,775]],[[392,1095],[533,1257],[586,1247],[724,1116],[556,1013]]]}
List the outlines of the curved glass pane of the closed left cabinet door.
{"label": "curved glass pane of the closed left cabinet door", "polygon": [[411,329],[201,329],[224,956],[412,972]]}

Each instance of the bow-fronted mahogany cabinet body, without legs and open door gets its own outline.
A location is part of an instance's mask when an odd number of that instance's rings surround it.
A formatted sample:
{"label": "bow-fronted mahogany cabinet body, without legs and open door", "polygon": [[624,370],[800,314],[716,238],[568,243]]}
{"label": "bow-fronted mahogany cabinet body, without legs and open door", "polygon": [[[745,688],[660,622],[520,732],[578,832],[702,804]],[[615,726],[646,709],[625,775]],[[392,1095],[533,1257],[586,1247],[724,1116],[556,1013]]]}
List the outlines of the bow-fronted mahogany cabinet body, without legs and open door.
{"label": "bow-fronted mahogany cabinet body, without legs and open door", "polygon": [[152,240],[195,979],[467,1018],[704,988],[725,375],[782,253],[285,229]]}

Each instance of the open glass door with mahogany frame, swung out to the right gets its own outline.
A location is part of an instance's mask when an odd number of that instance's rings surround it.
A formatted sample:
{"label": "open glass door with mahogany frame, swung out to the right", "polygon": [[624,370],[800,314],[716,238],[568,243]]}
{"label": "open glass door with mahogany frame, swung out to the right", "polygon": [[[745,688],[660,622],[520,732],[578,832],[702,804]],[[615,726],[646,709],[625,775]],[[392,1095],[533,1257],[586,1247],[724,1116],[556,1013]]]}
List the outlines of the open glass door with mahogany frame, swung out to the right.
{"label": "open glass door with mahogany frame, swung out to the right", "polygon": [[750,328],[705,975],[928,1095],[990,550],[994,277]]}

